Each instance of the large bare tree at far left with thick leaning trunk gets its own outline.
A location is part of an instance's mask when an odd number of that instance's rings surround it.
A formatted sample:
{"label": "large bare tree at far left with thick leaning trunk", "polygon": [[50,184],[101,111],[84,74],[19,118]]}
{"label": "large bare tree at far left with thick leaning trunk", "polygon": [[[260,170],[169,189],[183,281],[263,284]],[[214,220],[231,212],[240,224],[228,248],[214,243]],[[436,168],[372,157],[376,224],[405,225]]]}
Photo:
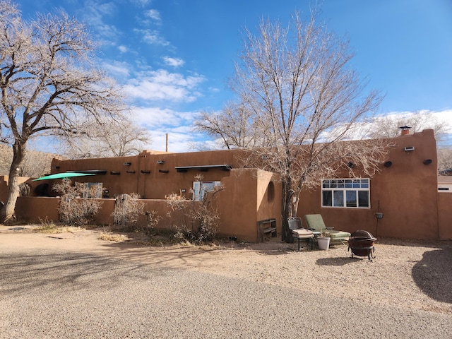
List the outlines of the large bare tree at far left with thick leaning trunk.
{"label": "large bare tree at far left with thick leaning trunk", "polygon": [[13,218],[30,137],[71,135],[80,121],[121,114],[121,95],[95,69],[93,51],[85,26],[66,14],[25,21],[11,1],[0,1],[0,138],[13,148],[1,220]]}

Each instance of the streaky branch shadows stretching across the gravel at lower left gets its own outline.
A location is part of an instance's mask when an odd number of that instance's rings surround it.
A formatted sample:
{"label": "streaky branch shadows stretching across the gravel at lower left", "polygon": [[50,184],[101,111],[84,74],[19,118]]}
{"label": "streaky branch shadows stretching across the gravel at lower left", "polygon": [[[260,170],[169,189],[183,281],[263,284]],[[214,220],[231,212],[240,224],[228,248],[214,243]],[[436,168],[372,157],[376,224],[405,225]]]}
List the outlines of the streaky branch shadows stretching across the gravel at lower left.
{"label": "streaky branch shadows stretching across the gravel at lower left", "polygon": [[[183,257],[184,254],[177,254],[174,260],[184,260]],[[54,251],[44,254],[15,253],[12,256],[1,254],[0,296],[21,295],[30,290],[39,293],[49,288],[57,289],[64,295],[67,290],[112,288],[128,278],[146,282],[152,276],[177,271],[174,267],[124,260],[126,258]]]}

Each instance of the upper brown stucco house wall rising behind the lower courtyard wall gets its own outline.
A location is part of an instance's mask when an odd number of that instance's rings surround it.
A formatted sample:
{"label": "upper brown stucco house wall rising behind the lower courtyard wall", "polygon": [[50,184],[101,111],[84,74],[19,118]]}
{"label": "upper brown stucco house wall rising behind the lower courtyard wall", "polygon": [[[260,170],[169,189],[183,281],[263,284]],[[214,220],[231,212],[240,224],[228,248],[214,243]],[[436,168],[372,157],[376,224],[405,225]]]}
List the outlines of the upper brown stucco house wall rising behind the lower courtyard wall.
{"label": "upper brown stucco house wall rising behind the lower courtyard wall", "polygon": [[[52,173],[101,169],[105,175],[95,175],[78,179],[81,182],[103,182],[109,190],[110,197],[116,194],[138,193],[141,198],[162,199],[168,194],[180,194],[182,189],[185,196],[190,198],[191,183],[196,174],[202,174],[203,181],[220,181],[229,172],[221,169],[209,169],[208,172],[198,172],[189,169],[187,172],[176,172],[175,167],[196,165],[232,165],[237,168],[240,150],[220,150],[194,153],[162,153],[153,154],[143,151],[133,157],[111,157],[104,159],[56,160],[52,161]],[[130,166],[124,163],[130,162]],[[164,162],[159,164],[157,162]],[[159,169],[165,172],[159,172]],[[150,173],[142,173],[141,171]],[[111,174],[119,172],[119,175]],[[42,183],[42,182],[40,182]],[[52,182],[53,184],[53,182]]]}

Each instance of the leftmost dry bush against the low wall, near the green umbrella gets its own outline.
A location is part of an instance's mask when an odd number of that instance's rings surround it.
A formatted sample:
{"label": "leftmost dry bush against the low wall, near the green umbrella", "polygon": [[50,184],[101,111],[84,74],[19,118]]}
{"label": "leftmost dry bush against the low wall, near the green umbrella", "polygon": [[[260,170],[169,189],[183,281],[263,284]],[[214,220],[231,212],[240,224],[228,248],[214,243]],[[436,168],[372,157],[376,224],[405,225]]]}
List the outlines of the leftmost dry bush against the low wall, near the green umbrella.
{"label": "leftmost dry bush against the low wall, near the green umbrella", "polygon": [[[87,196],[95,196],[97,188],[91,187]],[[66,225],[81,226],[94,222],[95,215],[100,210],[102,203],[94,198],[83,197],[83,183],[71,180],[63,180],[61,184],[54,184],[52,190],[61,194],[59,203],[59,220]]]}

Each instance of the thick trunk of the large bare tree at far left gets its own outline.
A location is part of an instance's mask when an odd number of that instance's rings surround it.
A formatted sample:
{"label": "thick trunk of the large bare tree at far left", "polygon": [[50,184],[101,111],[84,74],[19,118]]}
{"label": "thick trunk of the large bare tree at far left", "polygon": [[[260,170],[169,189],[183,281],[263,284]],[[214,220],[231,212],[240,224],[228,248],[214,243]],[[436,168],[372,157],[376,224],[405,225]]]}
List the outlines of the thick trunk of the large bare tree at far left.
{"label": "thick trunk of the large bare tree at far left", "polygon": [[19,196],[18,177],[20,165],[23,162],[24,155],[24,145],[19,141],[16,141],[13,145],[13,161],[11,162],[11,167],[9,168],[8,198],[6,199],[5,205],[3,206],[3,208],[1,208],[0,211],[0,220],[4,223],[12,222],[16,219],[14,210],[16,209],[16,201]]}

